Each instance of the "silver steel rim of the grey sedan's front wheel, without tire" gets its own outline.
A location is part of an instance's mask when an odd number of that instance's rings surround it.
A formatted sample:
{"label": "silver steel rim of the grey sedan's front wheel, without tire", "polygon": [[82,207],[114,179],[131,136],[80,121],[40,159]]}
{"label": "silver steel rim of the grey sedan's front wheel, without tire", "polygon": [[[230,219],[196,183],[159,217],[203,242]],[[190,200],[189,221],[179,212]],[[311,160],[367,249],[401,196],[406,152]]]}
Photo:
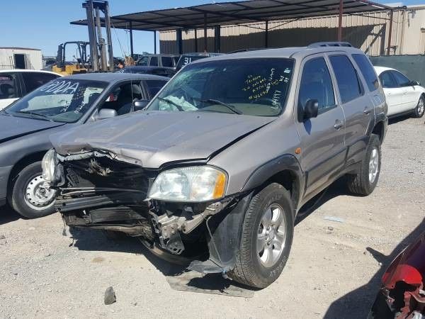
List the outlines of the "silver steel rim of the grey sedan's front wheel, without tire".
{"label": "silver steel rim of the grey sedan's front wheel, without tire", "polygon": [[49,184],[41,174],[31,179],[26,186],[25,202],[35,211],[42,211],[53,205],[55,191],[50,189]]}

